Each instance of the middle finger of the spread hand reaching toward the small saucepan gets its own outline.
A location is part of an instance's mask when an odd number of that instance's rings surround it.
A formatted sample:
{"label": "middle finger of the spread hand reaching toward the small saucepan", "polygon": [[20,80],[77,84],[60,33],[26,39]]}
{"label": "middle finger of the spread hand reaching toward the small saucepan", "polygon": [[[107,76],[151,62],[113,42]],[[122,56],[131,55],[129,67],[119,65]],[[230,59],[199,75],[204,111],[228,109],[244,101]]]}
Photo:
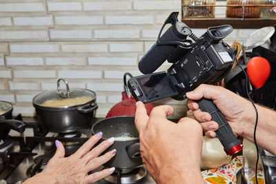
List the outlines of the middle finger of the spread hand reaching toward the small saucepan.
{"label": "middle finger of the spread hand reaching toward the small saucepan", "polygon": [[99,156],[104,150],[106,150],[110,145],[112,145],[115,141],[114,137],[111,137],[110,139],[101,142],[99,145],[97,145],[95,148],[93,148],[88,154],[83,156],[83,160],[88,162],[90,159],[93,159],[97,156]]}

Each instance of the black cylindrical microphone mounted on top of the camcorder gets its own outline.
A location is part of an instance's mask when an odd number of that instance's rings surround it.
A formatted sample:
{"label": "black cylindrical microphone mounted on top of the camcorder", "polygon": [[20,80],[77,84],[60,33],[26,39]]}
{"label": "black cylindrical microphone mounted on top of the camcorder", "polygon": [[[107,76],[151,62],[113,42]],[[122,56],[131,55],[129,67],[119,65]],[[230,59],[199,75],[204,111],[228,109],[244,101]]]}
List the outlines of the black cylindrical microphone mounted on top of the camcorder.
{"label": "black cylindrical microphone mounted on top of the camcorder", "polygon": [[[164,25],[166,25],[166,23]],[[164,25],[161,31],[163,30]],[[159,32],[159,36],[161,31]],[[185,46],[184,41],[190,34],[190,28],[188,28],[185,23],[177,21],[172,24],[161,37],[158,37],[157,42],[152,45],[150,50],[148,50],[144,57],[139,61],[138,68],[140,72],[143,74],[155,72],[155,70],[166,61],[178,45]]]}

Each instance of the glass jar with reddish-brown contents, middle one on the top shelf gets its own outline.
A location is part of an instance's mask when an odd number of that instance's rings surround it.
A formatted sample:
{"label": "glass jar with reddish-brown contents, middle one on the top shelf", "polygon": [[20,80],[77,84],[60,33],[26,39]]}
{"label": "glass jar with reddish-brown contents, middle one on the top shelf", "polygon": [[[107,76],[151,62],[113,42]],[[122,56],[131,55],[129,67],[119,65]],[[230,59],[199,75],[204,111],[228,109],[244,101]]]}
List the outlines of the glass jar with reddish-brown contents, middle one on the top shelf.
{"label": "glass jar with reddish-brown contents, middle one on the top shelf", "polygon": [[[227,0],[227,5],[260,5],[262,0]],[[239,17],[239,18],[259,18],[261,14],[261,7],[227,7],[226,17]]]}

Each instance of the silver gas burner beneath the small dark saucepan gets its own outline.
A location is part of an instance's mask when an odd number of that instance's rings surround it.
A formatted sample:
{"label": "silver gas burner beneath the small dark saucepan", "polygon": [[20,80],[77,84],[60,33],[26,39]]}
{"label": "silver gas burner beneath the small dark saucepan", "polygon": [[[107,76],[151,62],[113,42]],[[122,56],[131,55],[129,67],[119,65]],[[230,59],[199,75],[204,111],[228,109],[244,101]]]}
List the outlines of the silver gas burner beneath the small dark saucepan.
{"label": "silver gas burner beneath the small dark saucepan", "polygon": [[[144,178],[147,174],[147,171],[145,167],[138,167],[132,172],[121,174],[121,183],[136,183],[137,181],[141,180],[141,178]],[[110,176],[107,176],[106,178],[103,178],[103,180],[108,181],[110,183],[117,183],[117,173],[113,173]]]}

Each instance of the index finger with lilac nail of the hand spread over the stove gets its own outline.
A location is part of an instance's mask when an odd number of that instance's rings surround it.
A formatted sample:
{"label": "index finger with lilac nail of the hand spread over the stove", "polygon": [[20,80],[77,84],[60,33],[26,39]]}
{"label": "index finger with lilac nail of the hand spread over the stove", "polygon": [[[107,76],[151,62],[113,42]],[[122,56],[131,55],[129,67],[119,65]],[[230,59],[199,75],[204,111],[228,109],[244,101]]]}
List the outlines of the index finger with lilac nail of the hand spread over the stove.
{"label": "index finger with lilac nail of the hand spread over the stove", "polygon": [[76,156],[78,159],[81,158],[83,155],[87,154],[91,148],[101,139],[101,136],[103,135],[102,132],[99,132],[95,134],[94,136],[91,136],[86,143],[81,145],[77,152],[75,154],[72,154],[72,156]]}

